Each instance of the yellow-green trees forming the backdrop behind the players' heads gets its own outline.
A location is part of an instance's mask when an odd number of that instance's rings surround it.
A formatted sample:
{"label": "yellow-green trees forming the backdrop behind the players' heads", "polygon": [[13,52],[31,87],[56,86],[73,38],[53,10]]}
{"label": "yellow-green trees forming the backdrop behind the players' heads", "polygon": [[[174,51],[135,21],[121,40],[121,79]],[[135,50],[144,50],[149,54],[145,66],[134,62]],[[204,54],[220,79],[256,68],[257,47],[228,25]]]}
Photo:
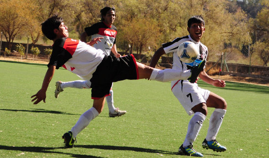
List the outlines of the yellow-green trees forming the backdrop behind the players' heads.
{"label": "yellow-green trees forming the backdrop behind the players' heads", "polygon": [[69,37],[78,39],[85,27],[100,19],[100,9],[111,6],[116,9],[118,49],[127,50],[131,44],[132,50],[142,54],[148,46],[155,51],[163,42],[188,35],[187,20],[202,15],[205,33],[201,42],[209,49],[208,59],[214,61],[222,52],[227,57],[242,50],[248,54],[248,46],[257,40],[269,45],[268,3],[268,0],[0,0],[0,31],[9,43],[20,35],[31,36],[34,44],[42,35],[41,22],[58,14],[68,26]]}

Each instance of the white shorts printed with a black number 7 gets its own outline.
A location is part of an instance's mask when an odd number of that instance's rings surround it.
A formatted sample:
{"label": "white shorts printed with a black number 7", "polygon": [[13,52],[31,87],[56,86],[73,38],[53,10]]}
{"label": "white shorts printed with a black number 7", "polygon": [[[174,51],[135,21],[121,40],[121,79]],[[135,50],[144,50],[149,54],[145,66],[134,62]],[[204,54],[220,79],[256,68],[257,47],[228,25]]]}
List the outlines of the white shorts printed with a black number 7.
{"label": "white shorts printed with a black number 7", "polygon": [[206,103],[210,94],[209,90],[202,89],[198,87],[197,83],[190,83],[189,81],[172,81],[171,88],[174,96],[179,100],[188,115],[194,114],[191,108],[195,105],[202,102]]}

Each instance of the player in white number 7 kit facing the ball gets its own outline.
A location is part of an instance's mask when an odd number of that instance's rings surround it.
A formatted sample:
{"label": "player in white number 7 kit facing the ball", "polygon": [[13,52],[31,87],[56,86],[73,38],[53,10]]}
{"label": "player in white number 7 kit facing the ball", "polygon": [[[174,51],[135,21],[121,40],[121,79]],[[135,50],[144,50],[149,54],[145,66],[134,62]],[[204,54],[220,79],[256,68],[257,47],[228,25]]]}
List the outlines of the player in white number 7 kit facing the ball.
{"label": "player in white number 7 kit facing the ball", "polygon": [[[176,38],[171,42],[163,43],[162,47],[160,47],[155,52],[150,66],[155,67],[160,56],[168,53],[173,53],[173,69],[180,71],[189,70],[196,64],[202,62],[202,60],[205,60],[207,58],[208,49],[200,42],[203,32],[205,31],[204,20],[202,16],[191,17],[188,20],[187,30],[189,32],[188,36]],[[185,41],[194,42],[200,50],[199,59],[196,59],[192,63],[182,62],[177,55],[177,49],[179,45]],[[224,80],[212,79],[206,74],[204,70],[200,73],[199,78],[217,87],[225,86]],[[171,90],[181,105],[184,107],[187,114],[194,115],[189,121],[186,138],[183,144],[179,147],[179,154],[203,157],[201,153],[196,152],[193,149],[193,142],[197,138],[202,127],[202,123],[206,118],[207,107],[213,107],[215,108],[215,111],[210,117],[207,136],[202,142],[202,147],[206,149],[212,149],[213,151],[217,152],[225,151],[226,148],[221,146],[220,143],[216,141],[216,136],[222,124],[224,114],[226,113],[226,101],[222,97],[208,90],[200,88],[197,83],[191,83],[188,80],[181,79],[172,81]]]}

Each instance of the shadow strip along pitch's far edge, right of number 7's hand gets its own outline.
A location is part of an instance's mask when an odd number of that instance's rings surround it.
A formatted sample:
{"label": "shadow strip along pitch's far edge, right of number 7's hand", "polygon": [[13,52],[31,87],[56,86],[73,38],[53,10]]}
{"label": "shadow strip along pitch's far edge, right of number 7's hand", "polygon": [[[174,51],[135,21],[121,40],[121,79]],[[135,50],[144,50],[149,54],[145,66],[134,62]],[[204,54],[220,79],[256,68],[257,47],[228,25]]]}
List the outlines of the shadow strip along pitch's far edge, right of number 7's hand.
{"label": "shadow strip along pitch's far edge, right of number 7's hand", "polygon": [[[230,81],[225,81],[225,82],[226,82],[226,86],[224,88],[222,88],[224,90],[235,90],[235,91],[246,91],[246,92],[269,94],[269,87],[268,86],[230,82]],[[215,87],[215,86],[207,84],[201,80],[199,80],[198,85],[203,87],[203,88],[204,87]],[[218,88],[218,87],[215,87],[215,88]]]}

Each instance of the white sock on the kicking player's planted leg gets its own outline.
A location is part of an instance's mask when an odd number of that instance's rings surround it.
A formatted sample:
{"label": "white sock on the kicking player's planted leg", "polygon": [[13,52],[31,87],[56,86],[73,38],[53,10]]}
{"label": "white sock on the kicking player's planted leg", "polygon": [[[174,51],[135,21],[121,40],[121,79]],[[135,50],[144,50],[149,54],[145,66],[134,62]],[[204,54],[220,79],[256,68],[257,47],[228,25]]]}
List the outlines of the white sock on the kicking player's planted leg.
{"label": "white sock on the kicking player's planted leg", "polygon": [[72,127],[70,130],[73,134],[73,138],[76,138],[77,135],[89,125],[90,121],[96,118],[98,115],[99,113],[94,107],[91,107],[88,111],[83,113],[74,127]]}

